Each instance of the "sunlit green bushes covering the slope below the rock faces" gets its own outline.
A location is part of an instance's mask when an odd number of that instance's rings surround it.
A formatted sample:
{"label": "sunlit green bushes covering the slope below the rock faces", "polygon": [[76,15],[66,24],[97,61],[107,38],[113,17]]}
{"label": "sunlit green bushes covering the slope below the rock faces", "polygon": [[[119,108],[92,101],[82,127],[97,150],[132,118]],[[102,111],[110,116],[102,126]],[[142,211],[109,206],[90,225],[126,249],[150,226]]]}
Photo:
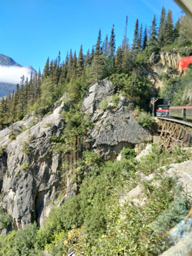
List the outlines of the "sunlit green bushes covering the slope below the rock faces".
{"label": "sunlit green bushes covering the slope below the rock faces", "polygon": [[[157,146],[140,163],[135,152],[123,148],[121,161],[107,161],[95,152],[83,152],[82,159],[73,170],[81,176],[79,192],[62,207],[49,214],[42,228],[26,226],[24,230],[0,236],[0,253],[9,255],[154,255],[167,248],[167,230],[177,224],[189,209],[189,202],[180,196],[180,187],[167,177],[160,166],[187,159],[181,148],[172,155],[160,152]],[[142,181],[138,170],[153,179]],[[126,193],[138,183],[147,197],[143,207],[127,201]],[[27,240],[23,237],[26,236]],[[25,244],[23,244],[25,243]]]}

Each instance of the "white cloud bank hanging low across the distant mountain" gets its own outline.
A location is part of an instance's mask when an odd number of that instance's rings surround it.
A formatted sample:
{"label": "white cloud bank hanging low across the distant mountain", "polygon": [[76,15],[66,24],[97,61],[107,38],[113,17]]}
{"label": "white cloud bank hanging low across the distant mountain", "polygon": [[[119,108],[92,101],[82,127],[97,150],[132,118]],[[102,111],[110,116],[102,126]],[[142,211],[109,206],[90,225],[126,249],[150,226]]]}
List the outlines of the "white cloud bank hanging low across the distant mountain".
{"label": "white cloud bank hanging low across the distant mountain", "polygon": [[7,67],[0,65],[0,82],[19,84],[21,77],[30,78],[32,70],[29,67]]}

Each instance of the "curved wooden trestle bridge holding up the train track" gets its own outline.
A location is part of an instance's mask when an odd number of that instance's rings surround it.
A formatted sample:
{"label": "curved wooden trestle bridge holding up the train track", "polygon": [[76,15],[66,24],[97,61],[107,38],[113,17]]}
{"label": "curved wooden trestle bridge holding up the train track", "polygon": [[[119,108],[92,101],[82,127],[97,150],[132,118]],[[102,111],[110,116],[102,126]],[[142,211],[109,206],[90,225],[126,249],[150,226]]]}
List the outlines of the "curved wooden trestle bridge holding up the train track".
{"label": "curved wooden trestle bridge holding up the train track", "polygon": [[192,146],[192,122],[158,118],[160,138],[158,145],[166,150],[172,150],[176,145]]}

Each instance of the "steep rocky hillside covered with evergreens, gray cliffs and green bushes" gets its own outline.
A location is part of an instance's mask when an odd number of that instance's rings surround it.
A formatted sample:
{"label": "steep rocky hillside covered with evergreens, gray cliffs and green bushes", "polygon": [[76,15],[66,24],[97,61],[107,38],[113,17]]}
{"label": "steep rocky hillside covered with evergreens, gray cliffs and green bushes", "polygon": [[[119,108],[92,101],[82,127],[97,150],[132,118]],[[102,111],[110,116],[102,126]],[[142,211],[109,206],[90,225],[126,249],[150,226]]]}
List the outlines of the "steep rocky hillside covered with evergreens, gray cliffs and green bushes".
{"label": "steep rocky hillside covered with evergreens, gray cliffs and green bushes", "polygon": [[158,29],[155,16],[144,33],[136,20],[132,45],[125,32],[116,49],[114,26],[102,45],[99,30],[86,56],[80,46],[61,62],[59,52],[2,98],[0,254],[158,255],[177,242],[191,152],[152,145],[147,111],[150,97],[191,104],[190,67],[179,68],[191,31],[164,8]]}

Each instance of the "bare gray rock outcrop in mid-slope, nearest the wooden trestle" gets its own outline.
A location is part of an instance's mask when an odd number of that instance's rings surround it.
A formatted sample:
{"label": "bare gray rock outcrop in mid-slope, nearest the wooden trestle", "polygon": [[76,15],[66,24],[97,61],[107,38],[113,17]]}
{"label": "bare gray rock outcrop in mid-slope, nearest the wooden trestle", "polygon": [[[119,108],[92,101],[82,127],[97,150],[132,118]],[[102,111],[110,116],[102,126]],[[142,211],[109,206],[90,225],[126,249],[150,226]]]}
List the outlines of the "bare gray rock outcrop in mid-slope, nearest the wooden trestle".
{"label": "bare gray rock outcrop in mid-slope, nearest the wooden trestle", "polygon": [[[132,147],[151,140],[151,135],[143,129],[133,117],[133,102],[120,97],[114,105],[113,84],[105,79],[89,88],[89,94],[83,101],[83,109],[92,114],[94,128],[90,131],[89,141],[94,150],[106,159],[114,159],[123,146]],[[107,102],[102,110],[101,103]]]}

